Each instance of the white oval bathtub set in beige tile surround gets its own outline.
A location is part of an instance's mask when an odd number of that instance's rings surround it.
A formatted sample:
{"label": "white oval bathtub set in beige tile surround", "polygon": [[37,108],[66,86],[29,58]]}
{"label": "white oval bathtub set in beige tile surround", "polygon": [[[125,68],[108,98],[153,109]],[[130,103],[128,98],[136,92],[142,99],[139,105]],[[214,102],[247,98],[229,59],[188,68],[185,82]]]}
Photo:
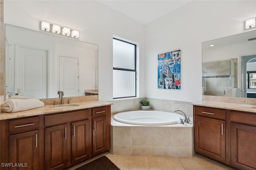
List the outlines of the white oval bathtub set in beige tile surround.
{"label": "white oval bathtub set in beige tile surround", "polygon": [[120,112],[114,115],[113,119],[121,123],[132,125],[173,125],[180,123],[180,117],[184,117],[178,113],[162,112],[162,111],[128,111]]}

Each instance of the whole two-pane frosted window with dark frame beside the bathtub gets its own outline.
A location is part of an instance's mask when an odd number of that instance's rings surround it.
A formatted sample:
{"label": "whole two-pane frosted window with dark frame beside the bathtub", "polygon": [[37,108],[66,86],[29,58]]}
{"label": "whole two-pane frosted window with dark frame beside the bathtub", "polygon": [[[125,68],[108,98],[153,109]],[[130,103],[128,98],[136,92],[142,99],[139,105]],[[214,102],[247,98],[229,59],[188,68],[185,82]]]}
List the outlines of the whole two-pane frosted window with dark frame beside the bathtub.
{"label": "whole two-pane frosted window with dark frame beside the bathtub", "polygon": [[136,44],[113,38],[113,99],[136,97]]}

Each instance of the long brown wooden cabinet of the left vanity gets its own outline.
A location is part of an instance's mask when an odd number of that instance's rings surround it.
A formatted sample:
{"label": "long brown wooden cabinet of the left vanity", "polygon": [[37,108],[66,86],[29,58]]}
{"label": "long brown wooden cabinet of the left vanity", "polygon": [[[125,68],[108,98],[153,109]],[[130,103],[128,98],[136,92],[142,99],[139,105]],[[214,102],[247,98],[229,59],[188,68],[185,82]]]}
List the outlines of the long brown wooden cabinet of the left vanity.
{"label": "long brown wooden cabinet of the left vanity", "polygon": [[1,120],[0,165],[60,170],[102,154],[110,148],[110,116],[107,105]]}

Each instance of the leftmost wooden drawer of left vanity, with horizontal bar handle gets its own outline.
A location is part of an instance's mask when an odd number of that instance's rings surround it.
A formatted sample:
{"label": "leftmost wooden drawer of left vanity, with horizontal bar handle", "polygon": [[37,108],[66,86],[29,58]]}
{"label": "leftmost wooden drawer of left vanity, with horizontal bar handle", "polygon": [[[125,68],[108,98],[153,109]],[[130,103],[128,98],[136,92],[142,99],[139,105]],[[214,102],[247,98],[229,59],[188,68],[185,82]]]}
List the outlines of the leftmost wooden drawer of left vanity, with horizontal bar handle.
{"label": "leftmost wooden drawer of left vanity, with horizontal bar handle", "polygon": [[32,128],[38,128],[39,117],[28,117],[9,121],[9,132],[18,132]]}

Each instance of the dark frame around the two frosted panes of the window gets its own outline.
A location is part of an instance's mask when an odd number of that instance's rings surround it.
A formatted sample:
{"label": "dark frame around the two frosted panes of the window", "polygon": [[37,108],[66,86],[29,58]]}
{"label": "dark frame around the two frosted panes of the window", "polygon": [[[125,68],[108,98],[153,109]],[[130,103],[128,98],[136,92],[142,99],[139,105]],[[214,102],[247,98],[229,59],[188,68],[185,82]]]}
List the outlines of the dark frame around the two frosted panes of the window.
{"label": "dark frame around the two frosted panes of the window", "polygon": [[[113,97],[113,99],[124,99],[124,98],[137,97],[137,45],[135,43],[130,43],[130,42],[127,42],[125,40],[120,40],[120,39],[114,38],[114,37],[113,37],[113,40],[118,40],[118,41],[121,41],[121,42],[125,42],[125,43],[129,43],[129,44],[134,45],[134,69],[125,69],[125,68],[113,67],[113,71],[114,70],[120,70],[120,71],[135,72],[135,95],[134,96],[126,96],[126,97]],[[114,57],[113,57],[113,60],[114,60]],[[114,92],[114,89],[113,89],[113,92]]]}

